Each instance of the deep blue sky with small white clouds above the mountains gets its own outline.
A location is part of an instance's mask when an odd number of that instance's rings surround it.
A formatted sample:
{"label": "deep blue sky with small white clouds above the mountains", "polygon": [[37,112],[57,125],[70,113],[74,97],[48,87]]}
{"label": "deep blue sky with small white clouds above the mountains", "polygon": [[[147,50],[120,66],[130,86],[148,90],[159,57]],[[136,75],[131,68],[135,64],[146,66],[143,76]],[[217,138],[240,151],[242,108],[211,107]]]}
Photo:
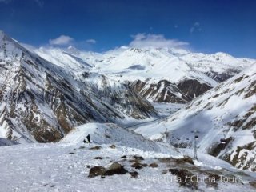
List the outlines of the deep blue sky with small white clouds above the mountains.
{"label": "deep blue sky with small white clouds above the mountains", "polygon": [[0,0],[0,29],[33,46],[174,46],[256,58],[256,1]]}

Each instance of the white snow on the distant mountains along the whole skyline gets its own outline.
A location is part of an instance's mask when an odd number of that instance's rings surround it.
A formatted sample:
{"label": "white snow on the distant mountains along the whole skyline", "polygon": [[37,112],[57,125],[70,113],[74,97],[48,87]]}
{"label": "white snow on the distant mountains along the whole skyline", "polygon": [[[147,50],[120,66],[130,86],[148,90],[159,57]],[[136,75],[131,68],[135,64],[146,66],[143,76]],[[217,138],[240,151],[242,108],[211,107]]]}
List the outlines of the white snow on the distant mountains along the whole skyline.
{"label": "white snow on the distant mountains along the whole skyline", "polygon": [[[93,66],[91,71],[107,74],[108,77],[120,82],[138,79],[142,81],[151,79],[152,82],[159,82],[165,79],[178,83],[188,78],[197,79],[210,86],[217,86],[218,82],[207,76],[207,72],[222,74],[231,73],[229,71],[234,70],[241,71],[255,62],[253,59],[234,58],[224,53],[202,54],[170,48],[138,49],[126,46],[103,54],[77,50],[73,46],[66,50],[42,47],[34,49],[34,52],[58,66],[69,66],[74,71],[81,70],[81,61],[89,63]],[[70,63],[72,55],[80,58],[79,64],[76,63],[77,61],[75,64]],[[134,66],[139,66],[139,68]]]}

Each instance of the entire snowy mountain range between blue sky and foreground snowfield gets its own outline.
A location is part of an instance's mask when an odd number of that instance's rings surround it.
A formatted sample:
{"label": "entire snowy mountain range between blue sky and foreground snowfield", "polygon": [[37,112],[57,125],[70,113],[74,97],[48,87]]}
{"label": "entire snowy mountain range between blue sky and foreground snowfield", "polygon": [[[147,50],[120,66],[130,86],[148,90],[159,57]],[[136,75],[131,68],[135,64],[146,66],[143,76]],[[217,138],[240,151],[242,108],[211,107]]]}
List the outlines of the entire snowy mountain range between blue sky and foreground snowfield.
{"label": "entire snowy mountain range between blue sky and foreground snowfield", "polygon": [[[0,138],[58,142],[88,122],[142,122],[135,132],[178,148],[193,148],[198,131],[199,152],[254,171],[255,63],[174,48],[34,48],[1,31]],[[182,109],[154,107],[170,104]]]}

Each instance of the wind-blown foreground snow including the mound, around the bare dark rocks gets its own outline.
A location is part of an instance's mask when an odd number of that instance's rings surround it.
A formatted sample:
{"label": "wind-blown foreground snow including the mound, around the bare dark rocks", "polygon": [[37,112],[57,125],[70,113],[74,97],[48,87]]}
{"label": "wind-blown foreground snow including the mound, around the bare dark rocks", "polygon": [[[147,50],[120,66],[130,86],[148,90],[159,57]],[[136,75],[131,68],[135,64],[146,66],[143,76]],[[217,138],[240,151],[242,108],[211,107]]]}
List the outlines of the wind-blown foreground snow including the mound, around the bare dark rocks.
{"label": "wind-blown foreground snow including the mound, around the bare dark rocks", "polygon": [[[97,129],[98,128],[98,129]],[[103,137],[107,133],[114,137]],[[78,132],[76,132],[78,131]],[[78,134],[79,133],[79,134]],[[90,133],[94,143],[83,144],[80,135]],[[117,143],[120,133],[126,133],[127,139],[123,138],[115,148],[110,145]],[[230,168],[226,162],[217,158],[199,154],[199,162],[195,161],[196,166],[177,162],[176,158],[181,157],[181,153],[173,148],[166,150],[166,153],[150,151],[146,147],[146,140],[141,136],[131,138],[132,132],[115,127],[112,124],[90,124],[90,126],[78,126],[77,130],[71,132],[63,142],[47,144],[22,144],[18,146],[0,147],[0,186],[1,191],[194,191],[191,186],[180,186],[178,178],[170,173],[162,174],[164,170],[186,169],[194,175],[202,178],[209,178],[210,175],[229,176],[238,182],[214,182],[213,186],[204,181],[198,181],[198,190],[232,190],[232,191],[254,191],[250,182],[255,180],[254,174],[242,172]],[[133,141],[130,141],[133,139]],[[64,142],[65,141],[65,142]],[[68,142],[70,141],[70,142]],[[101,142],[97,144],[95,142]],[[109,144],[103,144],[103,142]],[[137,144],[137,147],[127,147],[121,144],[130,142]],[[132,144],[132,145],[134,145]],[[90,147],[101,146],[99,150],[90,150]],[[128,143],[129,145],[129,143]],[[166,148],[168,149],[168,148]],[[186,154],[190,154],[186,151]],[[127,159],[121,158],[126,155]],[[150,164],[156,162],[158,167],[146,166],[138,172],[138,178],[131,178],[130,174],[106,176],[106,178],[88,178],[90,168],[93,166],[108,167],[112,162],[118,162],[128,171],[134,171],[131,167],[134,155],[144,158],[143,163]],[[101,157],[102,159],[94,159]],[[172,160],[172,158],[174,158]],[[205,162],[200,162],[202,158]],[[169,160],[168,160],[169,159]],[[167,162],[166,162],[167,161]],[[170,161],[170,162],[168,162]],[[174,161],[174,162],[172,162]],[[225,167],[225,169],[221,168]],[[217,175],[217,176],[216,176]],[[212,177],[212,176],[211,176]],[[188,182],[191,185],[191,182]]]}

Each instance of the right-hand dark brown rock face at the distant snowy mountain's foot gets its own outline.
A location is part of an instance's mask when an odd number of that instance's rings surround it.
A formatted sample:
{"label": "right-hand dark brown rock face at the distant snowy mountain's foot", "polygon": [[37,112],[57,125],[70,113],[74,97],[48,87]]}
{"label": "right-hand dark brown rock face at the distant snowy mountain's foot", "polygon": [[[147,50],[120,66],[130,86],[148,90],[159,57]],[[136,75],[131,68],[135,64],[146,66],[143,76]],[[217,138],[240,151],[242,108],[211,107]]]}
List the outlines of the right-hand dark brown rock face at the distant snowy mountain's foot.
{"label": "right-hand dark brown rock face at the distant snowy mountain's foot", "polygon": [[194,97],[198,97],[200,94],[203,94],[212,88],[211,86],[198,82],[198,80],[195,79],[186,79],[182,82],[179,82],[177,87],[190,97],[190,101]]}

